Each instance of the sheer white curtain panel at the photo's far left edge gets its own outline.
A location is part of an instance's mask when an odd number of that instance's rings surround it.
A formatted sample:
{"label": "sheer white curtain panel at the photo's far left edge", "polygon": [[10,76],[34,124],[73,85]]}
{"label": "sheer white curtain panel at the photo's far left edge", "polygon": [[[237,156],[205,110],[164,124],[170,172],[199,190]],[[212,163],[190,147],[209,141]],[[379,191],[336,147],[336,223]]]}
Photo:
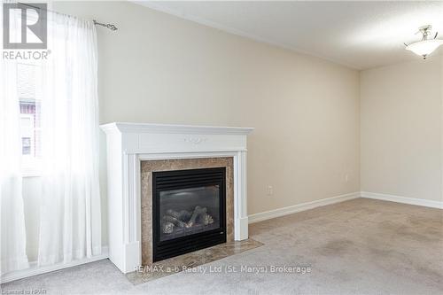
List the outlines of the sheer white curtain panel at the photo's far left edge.
{"label": "sheer white curtain panel at the photo's far left edge", "polygon": [[[3,24],[3,5],[0,23]],[[18,29],[11,22],[11,29]],[[2,34],[2,33],[0,33]],[[3,35],[0,35],[3,40]],[[0,275],[28,268],[21,178],[17,62],[0,59]]]}

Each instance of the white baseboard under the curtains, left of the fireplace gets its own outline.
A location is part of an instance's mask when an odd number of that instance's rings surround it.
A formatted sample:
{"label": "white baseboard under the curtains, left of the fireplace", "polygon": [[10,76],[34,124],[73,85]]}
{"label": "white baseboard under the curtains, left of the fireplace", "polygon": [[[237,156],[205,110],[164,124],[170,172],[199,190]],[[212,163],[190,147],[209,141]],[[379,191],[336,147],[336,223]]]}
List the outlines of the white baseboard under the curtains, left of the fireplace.
{"label": "white baseboard under the curtains, left of the fireplace", "polygon": [[72,267],[82,265],[85,263],[89,263],[89,262],[94,262],[94,261],[98,261],[98,260],[105,260],[107,258],[109,258],[109,252],[108,252],[108,247],[106,246],[106,247],[102,248],[102,254],[100,254],[100,255],[97,255],[97,256],[94,256],[91,258],[82,259],[82,260],[74,260],[69,263],[58,263],[55,265],[39,268],[39,267],[37,267],[36,261],[29,262],[30,268],[22,269],[22,270],[18,270],[18,271],[14,271],[14,272],[5,274],[4,276],[0,277],[0,283],[8,283],[8,282],[12,282],[12,281],[26,278],[29,276],[43,275],[43,274],[49,273],[51,271],[56,271],[56,270],[60,270],[63,268],[72,268]]}

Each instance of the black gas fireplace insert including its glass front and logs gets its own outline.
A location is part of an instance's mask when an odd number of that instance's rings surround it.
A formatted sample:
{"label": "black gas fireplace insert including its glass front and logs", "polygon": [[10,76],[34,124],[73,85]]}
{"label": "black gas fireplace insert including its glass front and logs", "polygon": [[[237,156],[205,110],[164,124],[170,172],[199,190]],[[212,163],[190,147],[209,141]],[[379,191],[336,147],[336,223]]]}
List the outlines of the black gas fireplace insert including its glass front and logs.
{"label": "black gas fireplace insert including its glass front and logs", "polygon": [[226,243],[226,167],[152,173],[152,260]]}

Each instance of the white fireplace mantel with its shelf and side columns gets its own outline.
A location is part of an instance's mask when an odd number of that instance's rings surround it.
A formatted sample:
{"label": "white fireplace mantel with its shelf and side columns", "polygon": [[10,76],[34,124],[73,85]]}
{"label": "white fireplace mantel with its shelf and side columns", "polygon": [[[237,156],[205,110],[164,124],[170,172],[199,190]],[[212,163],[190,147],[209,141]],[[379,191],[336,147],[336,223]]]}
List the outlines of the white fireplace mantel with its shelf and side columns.
{"label": "white fireplace mantel with its shelf and side columns", "polygon": [[234,236],[248,237],[246,136],[253,128],[109,123],[106,133],[109,258],[123,273],[141,264],[140,162],[234,159]]}

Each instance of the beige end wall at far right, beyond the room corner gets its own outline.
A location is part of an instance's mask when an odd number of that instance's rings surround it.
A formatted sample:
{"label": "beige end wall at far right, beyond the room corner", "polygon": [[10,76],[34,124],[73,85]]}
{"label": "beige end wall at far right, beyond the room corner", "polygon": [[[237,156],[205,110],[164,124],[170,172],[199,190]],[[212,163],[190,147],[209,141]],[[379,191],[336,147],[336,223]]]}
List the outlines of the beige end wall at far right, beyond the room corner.
{"label": "beige end wall at far right, beyond the room corner", "polygon": [[361,72],[361,190],[442,200],[443,58]]}

